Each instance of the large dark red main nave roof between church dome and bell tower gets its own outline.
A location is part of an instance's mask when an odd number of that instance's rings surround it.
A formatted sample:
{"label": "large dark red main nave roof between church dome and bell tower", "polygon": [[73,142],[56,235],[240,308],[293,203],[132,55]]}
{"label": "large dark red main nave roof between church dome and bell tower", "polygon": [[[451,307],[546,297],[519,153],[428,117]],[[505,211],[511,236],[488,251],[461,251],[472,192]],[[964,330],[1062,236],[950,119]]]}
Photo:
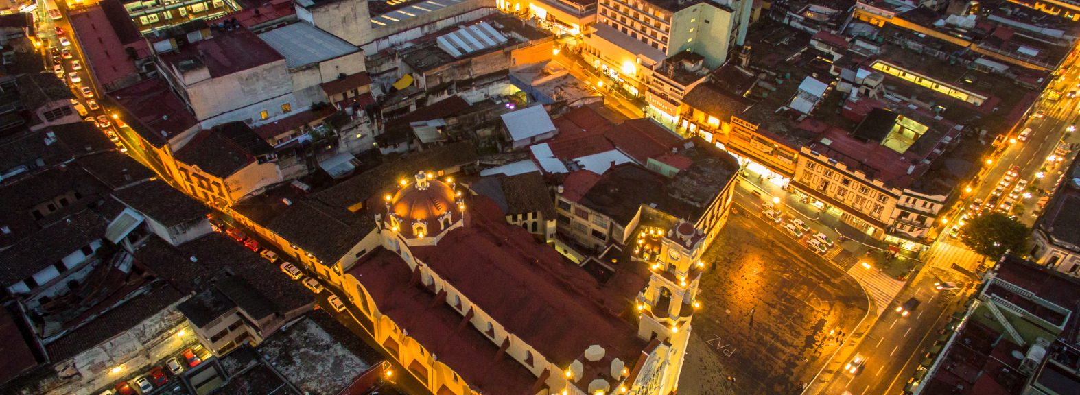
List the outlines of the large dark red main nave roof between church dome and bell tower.
{"label": "large dark red main nave roof between church dome and bell tower", "polygon": [[645,341],[636,323],[619,315],[631,310],[640,288],[607,294],[610,284],[598,284],[528,231],[508,224],[490,199],[477,196],[468,206],[472,223],[437,246],[413,247],[417,259],[556,365],[568,365],[592,344],[627,363],[637,359]]}

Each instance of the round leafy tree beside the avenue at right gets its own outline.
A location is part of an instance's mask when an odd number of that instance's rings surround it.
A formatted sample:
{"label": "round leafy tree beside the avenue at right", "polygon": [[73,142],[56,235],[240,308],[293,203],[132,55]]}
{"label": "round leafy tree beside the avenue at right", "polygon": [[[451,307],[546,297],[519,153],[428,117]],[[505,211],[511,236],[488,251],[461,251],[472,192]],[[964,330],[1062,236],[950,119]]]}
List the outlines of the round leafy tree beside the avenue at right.
{"label": "round leafy tree beside the avenue at right", "polygon": [[975,253],[997,259],[1007,249],[1020,251],[1027,242],[1030,229],[1002,213],[988,213],[968,221],[960,229],[960,242]]}

